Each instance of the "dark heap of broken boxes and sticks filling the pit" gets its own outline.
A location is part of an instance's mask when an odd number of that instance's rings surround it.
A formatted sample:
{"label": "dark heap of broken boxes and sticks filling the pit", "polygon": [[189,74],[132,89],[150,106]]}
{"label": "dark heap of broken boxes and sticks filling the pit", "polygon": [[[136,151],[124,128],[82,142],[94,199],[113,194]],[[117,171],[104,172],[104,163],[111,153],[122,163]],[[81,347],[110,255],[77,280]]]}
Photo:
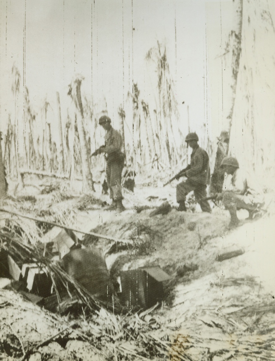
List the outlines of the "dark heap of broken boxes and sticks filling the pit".
{"label": "dark heap of broken boxes and sticks filling the pit", "polygon": [[[62,314],[79,305],[90,310],[145,310],[163,301],[163,282],[170,279],[156,266],[119,270],[115,279],[110,277],[102,251],[85,247],[69,228],[54,225],[35,245],[23,244],[3,230],[0,238],[2,288],[12,287],[52,312]],[[121,243],[110,240],[110,249]]]}

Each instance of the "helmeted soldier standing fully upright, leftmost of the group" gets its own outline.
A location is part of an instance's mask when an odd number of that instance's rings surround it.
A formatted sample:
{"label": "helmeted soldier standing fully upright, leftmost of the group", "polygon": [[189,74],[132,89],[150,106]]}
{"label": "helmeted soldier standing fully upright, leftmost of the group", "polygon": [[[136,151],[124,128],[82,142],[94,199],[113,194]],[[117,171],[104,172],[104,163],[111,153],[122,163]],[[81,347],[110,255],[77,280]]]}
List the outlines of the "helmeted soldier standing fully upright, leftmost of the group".
{"label": "helmeted soldier standing fully upright, leftmost of the group", "polygon": [[122,136],[119,131],[113,129],[111,119],[104,115],[99,118],[99,124],[105,129],[105,145],[100,147],[98,153],[105,153],[106,157],[106,178],[110,190],[112,204],[109,210],[123,212],[125,207],[122,204],[121,174],[124,166],[125,154],[122,153]]}

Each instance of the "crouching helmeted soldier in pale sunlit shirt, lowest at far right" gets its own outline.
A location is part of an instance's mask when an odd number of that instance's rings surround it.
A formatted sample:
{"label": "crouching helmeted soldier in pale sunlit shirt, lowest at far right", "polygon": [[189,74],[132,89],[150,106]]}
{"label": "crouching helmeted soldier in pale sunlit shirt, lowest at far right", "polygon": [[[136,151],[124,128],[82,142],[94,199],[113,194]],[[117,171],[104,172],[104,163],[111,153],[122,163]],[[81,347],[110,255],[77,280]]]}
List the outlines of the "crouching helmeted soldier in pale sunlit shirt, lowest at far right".
{"label": "crouching helmeted soldier in pale sunlit shirt, lowest at far right", "polygon": [[248,210],[249,218],[252,219],[264,203],[263,194],[252,178],[248,181],[244,171],[239,168],[239,162],[236,158],[224,158],[221,167],[225,173],[232,177],[231,179],[228,178],[229,182],[225,183],[224,191],[218,194],[217,199],[222,200],[224,208],[229,210],[231,217],[229,228],[235,228],[240,223],[237,210]]}

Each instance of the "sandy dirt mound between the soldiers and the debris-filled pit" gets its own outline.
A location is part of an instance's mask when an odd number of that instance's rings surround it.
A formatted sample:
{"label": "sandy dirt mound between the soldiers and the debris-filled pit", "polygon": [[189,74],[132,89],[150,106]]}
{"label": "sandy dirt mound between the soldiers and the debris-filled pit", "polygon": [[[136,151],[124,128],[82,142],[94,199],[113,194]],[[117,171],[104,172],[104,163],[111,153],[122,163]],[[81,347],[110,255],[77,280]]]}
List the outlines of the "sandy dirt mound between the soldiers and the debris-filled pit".
{"label": "sandy dirt mound between the soldiers and the debris-filled pit", "polygon": [[139,214],[125,213],[124,217],[103,223],[92,230],[134,242],[134,247],[130,249],[113,247],[113,251],[108,252],[110,244],[99,240],[98,245],[108,254],[107,262],[110,253],[114,260],[115,253],[124,252],[124,255],[127,253],[129,256],[128,267],[158,264],[174,274],[184,264],[207,261],[213,256],[214,250],[209,251],[205,245],[210,239],[228,232],[228,216],[224,213],[189,213],[177,212],[175,209],[165,216],[149,217],[149,213],[150,210]]}

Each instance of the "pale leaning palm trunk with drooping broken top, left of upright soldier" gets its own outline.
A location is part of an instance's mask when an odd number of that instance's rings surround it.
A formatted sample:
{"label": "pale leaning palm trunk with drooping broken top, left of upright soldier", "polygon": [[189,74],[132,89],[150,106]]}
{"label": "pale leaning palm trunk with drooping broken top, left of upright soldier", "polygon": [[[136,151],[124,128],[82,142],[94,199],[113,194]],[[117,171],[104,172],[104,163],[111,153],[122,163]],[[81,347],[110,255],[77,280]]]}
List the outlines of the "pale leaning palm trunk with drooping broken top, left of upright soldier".
{"label": "pale leaning palm trunk with drooping broken top, left of upright soldier", "polygon": [[90,154],[86,145],[86,136],[84,130],[84,113],[83,106],[81,100],[81,86],[82,79],[80,77],[75,78],[70,85],[69,95],[72,96],[77,109],[79,110],[79,115],[77,116],[77,130],[79,135],[79,143],[80,143],[80,155],[81,155],[81,165],[82,165],[82,177],[83,177],[83,189],[85,191],[95,191],[93,187],[93,178],[90,170]]}

